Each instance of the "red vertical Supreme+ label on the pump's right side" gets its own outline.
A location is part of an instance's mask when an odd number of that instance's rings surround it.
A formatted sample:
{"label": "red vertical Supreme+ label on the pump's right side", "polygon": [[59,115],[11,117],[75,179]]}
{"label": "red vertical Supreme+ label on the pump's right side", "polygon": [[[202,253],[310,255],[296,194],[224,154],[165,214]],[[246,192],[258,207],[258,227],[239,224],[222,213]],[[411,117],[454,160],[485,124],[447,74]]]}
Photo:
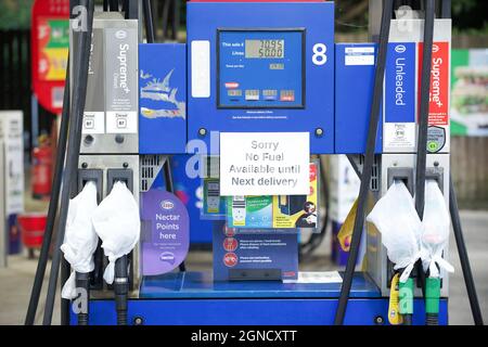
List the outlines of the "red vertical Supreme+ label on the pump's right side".
{"label": "red vertical Supreme+ label on the pump's right side", "polygon": [[[423,42],[419,43],[419,100],[422,75]],[[428,125],[449,124],[449,42],[434,42],[432,49]]]}

